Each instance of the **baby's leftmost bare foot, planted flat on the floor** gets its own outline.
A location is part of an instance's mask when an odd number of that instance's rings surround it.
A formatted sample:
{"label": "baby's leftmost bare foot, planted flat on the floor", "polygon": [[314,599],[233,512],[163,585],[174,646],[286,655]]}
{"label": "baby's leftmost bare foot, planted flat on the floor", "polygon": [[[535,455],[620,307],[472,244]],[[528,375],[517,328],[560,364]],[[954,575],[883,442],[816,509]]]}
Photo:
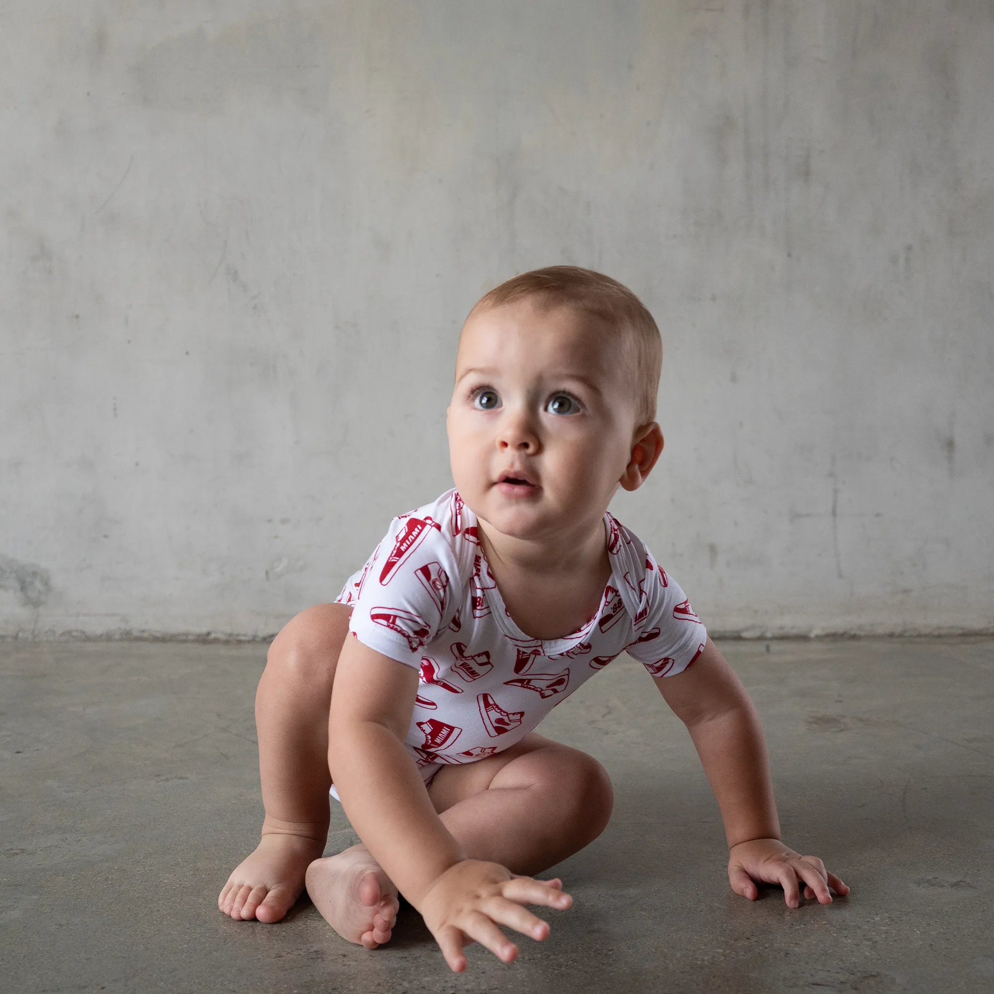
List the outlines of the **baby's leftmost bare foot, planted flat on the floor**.
{"label": "baby's leftmost bare foot, planted flat on the floor", "polygon": [[218,898],[218,908],[237,921],[279,921],[304,889],[308,865],[324,843],[300,835],[263,835],[236,868]]}

